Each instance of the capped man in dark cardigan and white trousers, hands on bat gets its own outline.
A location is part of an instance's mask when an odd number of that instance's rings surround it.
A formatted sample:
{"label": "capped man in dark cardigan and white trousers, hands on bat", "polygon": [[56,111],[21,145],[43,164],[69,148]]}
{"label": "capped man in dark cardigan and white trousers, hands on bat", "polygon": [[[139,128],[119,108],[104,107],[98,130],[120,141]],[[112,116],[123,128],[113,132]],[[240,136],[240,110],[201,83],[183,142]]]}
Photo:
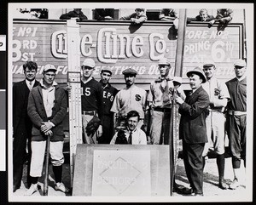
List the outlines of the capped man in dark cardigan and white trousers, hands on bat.
{"label": "capped man in dark cardigan and white trousers, hands on bat", "polygon": [[67,192],[61,182],[64,132],[62,121],[67,115],[67,94],[55,82],[57,69],[54,65],[45,65],[43,79],[32,88],[28,96],[27,113],[32,121],[32,160],[30,175],[32,185],[26,191],[31,196],[38,191],[38,178],[44,165],[46,140],[50,138],[49,155],[55,175],[55,190]]}

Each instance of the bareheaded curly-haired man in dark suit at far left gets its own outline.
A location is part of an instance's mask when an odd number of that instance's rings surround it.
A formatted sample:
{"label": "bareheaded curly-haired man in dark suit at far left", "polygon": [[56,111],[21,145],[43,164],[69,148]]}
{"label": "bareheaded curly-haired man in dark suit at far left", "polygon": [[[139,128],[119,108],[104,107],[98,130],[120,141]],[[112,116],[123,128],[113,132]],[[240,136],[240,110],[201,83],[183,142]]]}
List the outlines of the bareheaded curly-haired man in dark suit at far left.
{"label": "bareheaded curly-haired man in dark suit at far left", "polygon": [[27,116],[27,100],[30,89],[38,86],[35,80],[38,65],[35,62],[27,61],[23,65],[25,80],[15,83],[13,86],[13,131],[14,131],[14,149],[13,149],[13,191],[20,188],[23,163],[26,161],[26,140],[27,140],[27,185],[31,185],[29,176],[31,162],[31,134],[32,122]]}

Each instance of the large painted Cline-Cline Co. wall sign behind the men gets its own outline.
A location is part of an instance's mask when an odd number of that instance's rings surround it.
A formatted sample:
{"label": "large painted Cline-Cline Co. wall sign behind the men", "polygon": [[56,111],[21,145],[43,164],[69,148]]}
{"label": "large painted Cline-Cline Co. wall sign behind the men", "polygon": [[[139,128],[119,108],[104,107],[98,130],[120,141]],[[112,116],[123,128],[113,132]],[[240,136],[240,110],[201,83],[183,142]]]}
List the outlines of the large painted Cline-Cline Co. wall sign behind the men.
{"label": "large painted Cline-Cline Co. wall sign behind the men", "polygon": [[[64,20],[14,20],[13,21],[13,75],[14,82],[23,77],[22,65],[26,60],[38,63],[38,73],[44,65],[57,69],[58,83],[67,83],[67,26]],[[174,73],[177,31],[172,23],[147,21],[141,26],[127,21],[78,22],[80,26],[81,64],[85,58],[96,61],[94,77],[99,79],[103,67],[113,71],[111,82],[124,84],[122,71],[132,66],[137,70],[137,83],[148,89],[149,83],[159,76],[157,62],[165,56]],[[218,25],[190,23],[186,27],[183,78],[205,60],[214,60],[217,77],[225,81],[234,74],[233,62],[243,52],[242,25],[230,24],[224,30]],[[185,81],[186,82],[186,81]]]}

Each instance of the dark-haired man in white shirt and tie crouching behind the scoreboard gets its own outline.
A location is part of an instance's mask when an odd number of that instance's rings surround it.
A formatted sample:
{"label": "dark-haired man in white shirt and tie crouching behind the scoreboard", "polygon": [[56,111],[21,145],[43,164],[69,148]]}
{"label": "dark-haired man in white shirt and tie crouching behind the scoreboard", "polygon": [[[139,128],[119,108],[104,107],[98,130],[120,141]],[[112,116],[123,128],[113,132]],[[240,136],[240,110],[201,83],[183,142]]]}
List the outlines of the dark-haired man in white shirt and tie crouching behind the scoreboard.
{"label": "dark-haired man in white shirt and tie crouching behind the scoreboard", "polygon": [[[124,130],[120,129],[113,135],[110,145],[114,144],[130,144],[130,145],[147,145],[147,136],[142,129],[137,128],[137,122],[140,115],[137,111],[129,111],[127,114],[126,127]],[[128,143],[125,143],[125,138]]]}

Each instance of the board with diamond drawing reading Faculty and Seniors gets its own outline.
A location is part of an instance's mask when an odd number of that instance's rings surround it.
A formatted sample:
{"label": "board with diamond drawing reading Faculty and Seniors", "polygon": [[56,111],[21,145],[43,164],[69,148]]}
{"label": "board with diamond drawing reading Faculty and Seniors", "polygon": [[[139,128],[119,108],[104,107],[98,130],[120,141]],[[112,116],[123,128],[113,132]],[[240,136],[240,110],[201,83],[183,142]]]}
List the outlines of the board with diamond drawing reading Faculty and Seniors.
{"label": "board with diamond drawing reading Faculty and Seniors", "polygon": [[77,147],[73,196],[170,196],[170,185],[169,145]]}

